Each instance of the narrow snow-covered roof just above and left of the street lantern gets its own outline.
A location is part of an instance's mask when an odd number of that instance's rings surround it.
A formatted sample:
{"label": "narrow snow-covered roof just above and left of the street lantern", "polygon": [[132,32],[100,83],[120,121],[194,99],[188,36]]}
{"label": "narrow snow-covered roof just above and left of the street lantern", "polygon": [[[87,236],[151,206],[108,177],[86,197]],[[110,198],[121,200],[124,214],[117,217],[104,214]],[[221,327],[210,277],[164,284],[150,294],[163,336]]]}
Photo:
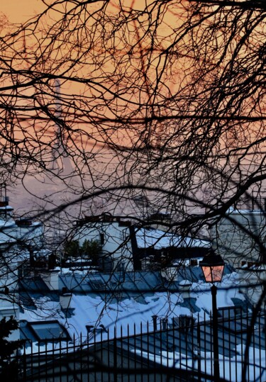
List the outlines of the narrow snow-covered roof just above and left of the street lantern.
{"label": "narrow snow-covered roof just above and left of the street lantern", "polygon": [[207,240],[181,237],[170,232],[151,228],[140,228],[135,232],[138,248],[154,247],[162,249],[167,247],[211,247]]}

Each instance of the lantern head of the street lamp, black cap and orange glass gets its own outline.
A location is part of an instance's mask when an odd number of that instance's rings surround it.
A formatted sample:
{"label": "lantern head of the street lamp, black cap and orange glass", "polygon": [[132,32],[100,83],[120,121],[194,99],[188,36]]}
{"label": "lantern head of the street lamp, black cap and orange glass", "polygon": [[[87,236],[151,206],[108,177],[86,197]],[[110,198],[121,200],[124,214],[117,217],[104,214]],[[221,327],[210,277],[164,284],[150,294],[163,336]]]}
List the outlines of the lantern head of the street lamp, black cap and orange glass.
{"label": "lantern head of the street lamp, black cap and orange glass", "polygon": [[219,283],[223,278],[225,263],[218,254],[211,254],[204,257],[199,263],[204,274],[206,283]]}

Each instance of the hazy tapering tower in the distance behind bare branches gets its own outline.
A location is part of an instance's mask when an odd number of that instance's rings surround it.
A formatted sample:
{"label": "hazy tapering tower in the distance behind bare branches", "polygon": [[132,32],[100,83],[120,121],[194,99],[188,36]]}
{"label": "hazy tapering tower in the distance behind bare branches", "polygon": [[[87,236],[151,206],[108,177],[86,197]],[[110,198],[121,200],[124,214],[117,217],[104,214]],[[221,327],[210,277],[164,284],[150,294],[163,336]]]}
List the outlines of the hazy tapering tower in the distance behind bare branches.
{"label": "hazy tapering tower in the distance behind bare branches", "polygon": [[[62,102],[60,100],[60,80],[55,79],[55,142],[52,146],[52,166],[51,170],[60,176],[70,176],[73,174],[70,157],[65,150],[64,125],[62,120]],[[62,120],[61,122],[57,122]]]}

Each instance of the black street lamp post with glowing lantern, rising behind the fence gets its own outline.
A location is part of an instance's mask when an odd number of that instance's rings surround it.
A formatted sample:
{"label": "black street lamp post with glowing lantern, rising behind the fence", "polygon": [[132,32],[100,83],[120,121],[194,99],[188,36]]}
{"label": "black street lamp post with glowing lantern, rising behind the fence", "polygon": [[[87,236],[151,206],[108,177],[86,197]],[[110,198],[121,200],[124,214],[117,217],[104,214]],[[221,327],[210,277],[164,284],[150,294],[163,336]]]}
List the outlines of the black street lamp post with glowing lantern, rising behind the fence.
{"label": "black street lamp post with glowing lantern, rising behind the fence", "polygon": [[201,262],[199,262],[204,274],[206,283],[212,283],[212,325],[213,325],[213,341],[214,341],[214,381],[220,381],[219,369],[219,352],[218,352],[218,312],[216,304],[217,286],[214,283],[221,282],[223,277],[223,269],[225,263],[220,255],[215,254],[213,250],[207,254]]}

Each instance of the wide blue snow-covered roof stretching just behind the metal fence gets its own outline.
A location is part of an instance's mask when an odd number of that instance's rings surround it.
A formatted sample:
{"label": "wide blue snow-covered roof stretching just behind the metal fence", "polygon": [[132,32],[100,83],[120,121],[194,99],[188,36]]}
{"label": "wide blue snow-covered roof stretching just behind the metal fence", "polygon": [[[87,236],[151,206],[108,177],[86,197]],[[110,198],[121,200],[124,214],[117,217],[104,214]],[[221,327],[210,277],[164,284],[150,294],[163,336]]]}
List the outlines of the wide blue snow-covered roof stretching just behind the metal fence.
{"label": "wide blue snow-covered roof stretching just behind the metal fence", "polygon": [[[192,284],[189,297],[185,296],[179,284],[184,280]],[[245,303],[243,294],[235,289],[237,274],[227,269],[221,286],[218,287],[217,305],[234,306],[234,299]],[[211,311],[211,289],[204,283],[200,267],[180,269],[177,281],[167,283],[159,272],[128,272],[126,274],[80,274],[69,272],[59,274],[59,291],[70,291],[72,299],[69,309],[60,306],[60,293],[51,292],[42,279],[21,281],[24,302],[20,320],[43,322],[57,320],[67,328],[70,337],[77,334],[87,336],[87,326],[96,330],[104,327],[113,332],[122,327],[130,334],[140,332],[141,325],[153,323],[153,315],[159,319],[179,315],[194,315],[195,318],[209,318]],[[231,286],[234,288],[231,288]],[[134,329],[135,325],[135,329]],[[152,326],[151,326],[152,328]],[[100,332],[100,329],[99,329]],[[100,337],[99,337],[100,338]]]}

